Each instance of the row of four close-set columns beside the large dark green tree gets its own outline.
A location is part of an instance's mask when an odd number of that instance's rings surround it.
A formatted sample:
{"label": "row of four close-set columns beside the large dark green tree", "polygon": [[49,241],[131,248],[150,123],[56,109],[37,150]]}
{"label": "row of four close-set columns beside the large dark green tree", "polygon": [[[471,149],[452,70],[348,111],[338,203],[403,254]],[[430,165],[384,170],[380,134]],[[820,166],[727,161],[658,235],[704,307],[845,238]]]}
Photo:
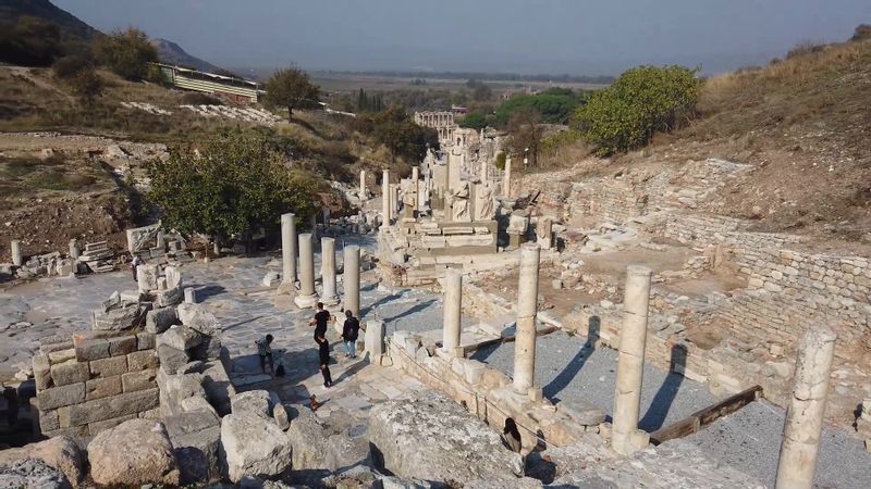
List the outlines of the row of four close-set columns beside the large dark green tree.
{"label": "row of four close-set columns beside the large dark green tree", "polygon": [[[321,238],[321,280],[320,297],[315,290],[315,243],[311,233],[296,236],[295,216],[292,213],[281,216],[282,242],[282,285],[290,290],[295,290],[295,283],[299,278],[299,290],[295,293],[294,302],[299,308],[311,308],[318,301],[328,305],[339,304],[336,287],[335,239]],[[297,271],[296,254],[299,253],[299,267]],[[343,299],[344,310],[351,310],[354,315],[359,313],[360,304],[360,247],[352,244],[344,249],[344,276]]]}

